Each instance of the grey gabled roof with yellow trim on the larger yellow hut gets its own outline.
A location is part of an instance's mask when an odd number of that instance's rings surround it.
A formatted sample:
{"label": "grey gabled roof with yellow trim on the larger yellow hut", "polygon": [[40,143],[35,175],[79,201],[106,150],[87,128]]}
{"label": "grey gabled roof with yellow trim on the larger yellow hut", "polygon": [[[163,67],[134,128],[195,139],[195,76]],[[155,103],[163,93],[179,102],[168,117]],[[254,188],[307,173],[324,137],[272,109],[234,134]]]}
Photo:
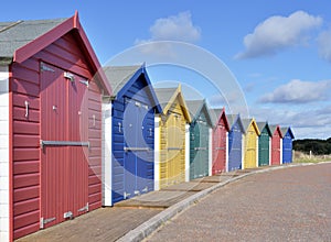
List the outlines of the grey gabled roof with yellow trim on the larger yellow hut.
{"label": "grey gabled roof with yellow trim on the larger yellow hut", "polygon": [[191,116],[186,102],[183,98],[181,85],[179,85],[177,88],[154,88],[154,91],[162,110],[161,112],[164,116],[168,114],[168,111],[171,109],[171,106],[178,99],[188,123],[191,123]]}

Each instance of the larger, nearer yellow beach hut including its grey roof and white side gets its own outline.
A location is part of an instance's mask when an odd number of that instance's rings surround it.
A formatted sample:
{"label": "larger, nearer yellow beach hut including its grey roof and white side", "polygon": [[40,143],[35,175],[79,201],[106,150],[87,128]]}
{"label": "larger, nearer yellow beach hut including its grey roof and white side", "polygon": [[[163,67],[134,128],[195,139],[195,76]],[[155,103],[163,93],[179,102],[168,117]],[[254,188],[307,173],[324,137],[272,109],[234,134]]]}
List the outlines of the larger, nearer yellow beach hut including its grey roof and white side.
{"label": "larger, nearer yellow beach hut including its grey roof and white side", "polygon": [[191,117],[182,95],[177,88],[156,88],[161,113],[156,117],[154,189],[189,179],[188,147]]}

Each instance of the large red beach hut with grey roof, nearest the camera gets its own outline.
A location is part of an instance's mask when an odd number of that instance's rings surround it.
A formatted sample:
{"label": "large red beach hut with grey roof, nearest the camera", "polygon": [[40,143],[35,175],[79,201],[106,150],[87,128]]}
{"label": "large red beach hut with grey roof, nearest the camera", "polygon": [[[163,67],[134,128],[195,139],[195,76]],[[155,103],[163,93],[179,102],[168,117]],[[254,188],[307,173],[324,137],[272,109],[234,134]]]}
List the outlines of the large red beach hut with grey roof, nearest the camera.
{"label": "large red beach hut with grey roof, nearest the camera", "polygon": [[110,87],[77,13],[2,22],[0,40],[0,238],[11,241],[102,206]]}

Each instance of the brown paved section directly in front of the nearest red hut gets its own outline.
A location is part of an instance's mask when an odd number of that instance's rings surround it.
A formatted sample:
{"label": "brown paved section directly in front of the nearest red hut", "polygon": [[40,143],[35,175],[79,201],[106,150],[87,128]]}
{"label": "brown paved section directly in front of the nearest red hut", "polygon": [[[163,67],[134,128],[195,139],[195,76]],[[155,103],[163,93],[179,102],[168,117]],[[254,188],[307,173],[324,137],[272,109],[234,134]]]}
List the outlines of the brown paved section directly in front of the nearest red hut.
{"label": "brown paved section directly in front of the nearest red hut", "polygon": [[116,241],[160,209],[100,208],[17,240],[18,242]]}

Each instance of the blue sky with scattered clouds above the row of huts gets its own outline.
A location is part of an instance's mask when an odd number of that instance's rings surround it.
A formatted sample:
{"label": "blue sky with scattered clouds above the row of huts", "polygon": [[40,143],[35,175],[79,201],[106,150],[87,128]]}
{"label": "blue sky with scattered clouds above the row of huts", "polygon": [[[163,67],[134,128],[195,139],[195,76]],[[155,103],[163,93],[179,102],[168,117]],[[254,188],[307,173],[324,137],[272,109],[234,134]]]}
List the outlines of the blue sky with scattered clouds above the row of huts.
{"label": "blue sky with scattered clouds above the row of huts", "polygon": [[[248,114],[258,121],[291,125],[298,139],[331,136],[330,1],[30,0],[7,1],[1,9],[0,21],[67,18],[78,10],[102,64],[111,64],[114,56],[141,43],[189,43],[192,52],[204,51],[205,59],[217,57],[233,75],[231,81],[237,81],[238,92],[229,94],[231,85],[221,84],[223,96],[215,94],[210,85],[214,80],[171,65],[150,66],[152,81],[182,81],[200,94],[196,97],[233,111],[237,109],[228,106],[243,91]],[[175,46],[152,51],[162,50],[177,53]],[[201,61],[190,58],[193,66]]]}

